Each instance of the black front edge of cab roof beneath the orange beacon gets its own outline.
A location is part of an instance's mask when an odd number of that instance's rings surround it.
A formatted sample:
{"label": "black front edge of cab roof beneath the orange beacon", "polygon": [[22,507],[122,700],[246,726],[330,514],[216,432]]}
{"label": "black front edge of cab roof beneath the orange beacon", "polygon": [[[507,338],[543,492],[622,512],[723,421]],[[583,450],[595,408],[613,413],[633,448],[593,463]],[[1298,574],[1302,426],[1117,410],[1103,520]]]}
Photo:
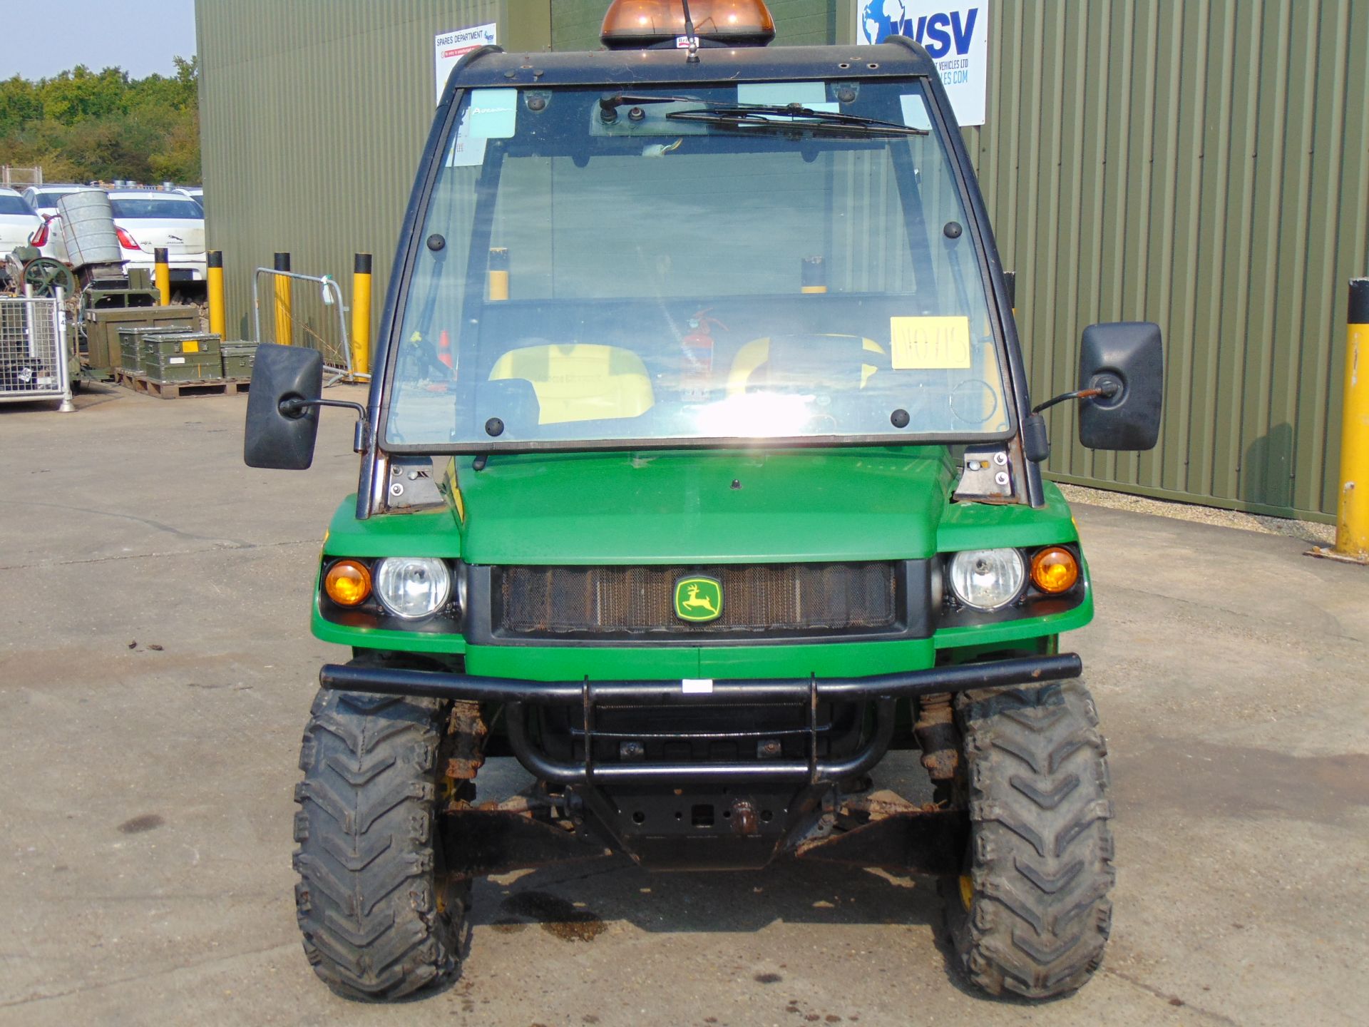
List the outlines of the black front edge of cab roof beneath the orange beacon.
{"label": "black front edge of cab roof beneath the orange beacon", "polygon": [[[452,88],[538,88],[563,85],[691,85],[787,82],[815,78],[935,77],[927,51],[906,37],[873,47],[700,47],[698,62],[686,51],[616,49],[559,53],[507,53],[483,47],[461,59],[448,79]],[[444,99],[446,94],[444,93]]]}

